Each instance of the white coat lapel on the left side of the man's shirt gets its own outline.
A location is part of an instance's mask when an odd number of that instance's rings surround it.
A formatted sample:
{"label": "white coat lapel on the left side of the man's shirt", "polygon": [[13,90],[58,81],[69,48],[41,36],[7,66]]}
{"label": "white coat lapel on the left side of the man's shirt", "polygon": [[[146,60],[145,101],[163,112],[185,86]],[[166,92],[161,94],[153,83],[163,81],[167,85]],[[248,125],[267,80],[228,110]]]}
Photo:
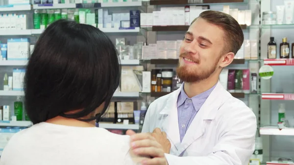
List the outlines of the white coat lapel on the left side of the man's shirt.
{"label": "white coat lapel on the left side of the man's shirt", "polygon": [[160,115],[166,116],[162,121],[162,131],[167,133],[168,139],[176,148],[178,148],[181,144],[177,113],[177,98],[180,91],[181,88],[170,94],[170,97],[166,102],[166,106],[160,112]]}

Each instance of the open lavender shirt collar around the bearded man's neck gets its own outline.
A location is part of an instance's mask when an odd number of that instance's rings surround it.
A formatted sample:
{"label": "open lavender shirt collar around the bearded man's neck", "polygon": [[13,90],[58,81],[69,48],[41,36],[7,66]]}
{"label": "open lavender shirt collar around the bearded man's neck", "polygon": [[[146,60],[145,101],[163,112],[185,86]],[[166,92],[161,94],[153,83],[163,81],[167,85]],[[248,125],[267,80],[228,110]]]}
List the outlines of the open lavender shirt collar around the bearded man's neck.
{"label": "open lavender shirt collar around the bearded man's neck", "polygon": [[[183,105],[186,101],[188,97],[188,95],[185,93],[184,91],[184,84],[182,84],[182,89],[181,89],[181,92],[178,96],[178,100],[177,100],[177,107]],[[191,99],[192,99],[192,102],[193,102],[193,105],[194,107],[196,107],[197,105],[200,104],[203,104],[204,101],[207,99],[207,97],[209,96],[209,94],[211,94],[211,92],[215,89],[215,87],[217,86],[217,84],[215,84],[212,88],[210,88],[209,90],[201,93],[201,94],[198,94],[196,96],[193,96]]]}

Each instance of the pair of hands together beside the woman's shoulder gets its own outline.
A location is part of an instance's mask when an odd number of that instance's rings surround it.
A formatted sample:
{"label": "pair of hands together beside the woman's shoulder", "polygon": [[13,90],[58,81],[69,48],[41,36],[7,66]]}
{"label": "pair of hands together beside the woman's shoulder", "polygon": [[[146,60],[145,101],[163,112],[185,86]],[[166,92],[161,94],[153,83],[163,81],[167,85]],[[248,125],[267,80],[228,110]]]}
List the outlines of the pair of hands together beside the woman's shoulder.
{"label": "pair of hands together beside the woman's shoulder", "polygon": [[126,135],[130,136],[132,154],[146,157],[141,161],[142,165],[168,165],[165,153],[169,154],[171,142],[167,139],[167,134],[159,128],[155,128],[152,133],[136,134],[132,130],[127,130]]}

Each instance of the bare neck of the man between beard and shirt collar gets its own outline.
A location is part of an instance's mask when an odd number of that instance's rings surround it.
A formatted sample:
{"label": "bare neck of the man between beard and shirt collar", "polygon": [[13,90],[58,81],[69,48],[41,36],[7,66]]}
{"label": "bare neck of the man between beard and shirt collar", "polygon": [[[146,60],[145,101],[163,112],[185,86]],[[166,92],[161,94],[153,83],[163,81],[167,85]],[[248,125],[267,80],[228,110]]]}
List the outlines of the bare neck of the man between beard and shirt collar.
{"label": "bare neck of the man between beard and shirt collar", "polygon": [[188,95],[188,97],[191,98],[209,90],[214,85],[216,85],[218,81],[219,81],[218,78],[214,78],[214,79],[208,78],[208,79],[201,80],[198,82],[193,82],[193,83],[185,82],[184,91]]}

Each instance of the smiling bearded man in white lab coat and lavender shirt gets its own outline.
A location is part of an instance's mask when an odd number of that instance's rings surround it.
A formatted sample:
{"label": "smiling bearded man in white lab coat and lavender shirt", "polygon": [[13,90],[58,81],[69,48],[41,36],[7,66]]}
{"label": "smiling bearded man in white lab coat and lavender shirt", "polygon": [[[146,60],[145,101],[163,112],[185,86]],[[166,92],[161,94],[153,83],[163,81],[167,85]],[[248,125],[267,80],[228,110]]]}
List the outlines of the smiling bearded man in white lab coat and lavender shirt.
{"label": "smiling bearded man in white lab coat and lavender shirt", "polygon": [[[255,115],[219,82],[221,70],[232,63],[243,40],[238,22],[219,11],[202,12],[190,25],[176,70],[184,83],[150,104],[142,130],[153,132],[166,149],[168,165],[248,165]],[[165,134],[170,150],[161,142]],[[148,146],[136,143],[137,148],[146,147],[141,154],[152,150]]]}

